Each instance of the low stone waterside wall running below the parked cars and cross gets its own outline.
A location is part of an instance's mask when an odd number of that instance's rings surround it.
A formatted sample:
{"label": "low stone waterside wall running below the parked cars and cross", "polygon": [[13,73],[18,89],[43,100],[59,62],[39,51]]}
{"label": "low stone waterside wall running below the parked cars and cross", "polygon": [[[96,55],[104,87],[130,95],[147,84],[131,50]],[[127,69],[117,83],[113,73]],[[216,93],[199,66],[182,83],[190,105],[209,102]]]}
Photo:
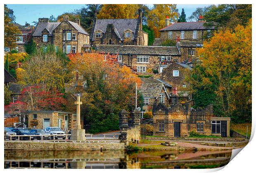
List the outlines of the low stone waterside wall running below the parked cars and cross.
{"label": "low stone waterside wall running below the parked cars and cross", "polygon": [[124,150],[124,143],[5,141],[5,150]]}

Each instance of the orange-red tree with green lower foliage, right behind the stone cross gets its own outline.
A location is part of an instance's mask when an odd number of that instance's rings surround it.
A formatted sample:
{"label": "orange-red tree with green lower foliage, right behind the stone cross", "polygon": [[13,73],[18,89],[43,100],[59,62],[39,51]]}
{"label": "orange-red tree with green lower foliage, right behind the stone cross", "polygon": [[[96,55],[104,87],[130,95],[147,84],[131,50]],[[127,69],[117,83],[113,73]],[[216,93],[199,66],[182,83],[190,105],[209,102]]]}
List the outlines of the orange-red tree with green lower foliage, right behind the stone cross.
{"label": "orange-red tree with green lower foliage, right behind the stone cross", "polygon": [[119,111],[135,108],[135,83],[140,86],[140,79],[128,67],[120,67],[113,55],[77,53],[69,58],[69,68],[77,70],[86,85],[80,92],[90,132],[118,129]]}

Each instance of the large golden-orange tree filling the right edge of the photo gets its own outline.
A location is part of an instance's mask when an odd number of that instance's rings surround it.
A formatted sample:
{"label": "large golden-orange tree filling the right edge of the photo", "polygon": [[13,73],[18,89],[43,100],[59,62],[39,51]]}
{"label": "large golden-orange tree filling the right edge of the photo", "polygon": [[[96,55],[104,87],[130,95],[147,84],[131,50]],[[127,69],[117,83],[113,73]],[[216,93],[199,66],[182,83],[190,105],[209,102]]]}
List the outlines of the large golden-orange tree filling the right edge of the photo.
{"label": "large golden-orange tree filling the right edge of the photo", "polygon": [[251,122],[251,19],[246,27],[216,32],[199,55],[201,69],[194,68],[191,79],[195,95],[211,94],[216,115]]}

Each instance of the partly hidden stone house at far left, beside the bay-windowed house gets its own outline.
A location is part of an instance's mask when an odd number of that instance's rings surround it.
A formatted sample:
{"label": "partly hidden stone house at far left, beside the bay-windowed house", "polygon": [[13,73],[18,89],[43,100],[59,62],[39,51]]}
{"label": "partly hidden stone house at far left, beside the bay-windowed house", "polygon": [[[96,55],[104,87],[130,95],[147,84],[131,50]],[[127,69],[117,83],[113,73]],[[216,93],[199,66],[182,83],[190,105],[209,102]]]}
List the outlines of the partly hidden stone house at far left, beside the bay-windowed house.
{"label": "partly hidden stone house at far left, beside the bay-windowed house", "polygon": [[34,30],[34,26],[31,26],[29,23],[25,23],[25,25],[20,25],[18,23],[15,23],[15,25],[19,28],[21,31],[21,35],[16,36],[16,43],[17,43],[17,51],[20,52],[26,52],[24,45],[30,44],[32,39],[32,32]]}

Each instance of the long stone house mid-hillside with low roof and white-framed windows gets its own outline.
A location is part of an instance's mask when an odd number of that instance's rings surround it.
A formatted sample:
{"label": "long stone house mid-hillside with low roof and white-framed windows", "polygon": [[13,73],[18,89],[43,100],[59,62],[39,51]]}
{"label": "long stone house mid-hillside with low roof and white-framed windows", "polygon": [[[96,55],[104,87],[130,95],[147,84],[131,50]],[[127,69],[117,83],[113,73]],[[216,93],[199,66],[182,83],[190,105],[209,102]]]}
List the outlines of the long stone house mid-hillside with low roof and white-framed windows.
{"label": "long stone house mid-hillside with low roof and white-framed windows", "polygon": [[116,55],[118,62],[133,69],[138,74],[153,74],[160,64],[171,61],[182,62],[177,46],[134,46],[97,44],[95,51]]}

